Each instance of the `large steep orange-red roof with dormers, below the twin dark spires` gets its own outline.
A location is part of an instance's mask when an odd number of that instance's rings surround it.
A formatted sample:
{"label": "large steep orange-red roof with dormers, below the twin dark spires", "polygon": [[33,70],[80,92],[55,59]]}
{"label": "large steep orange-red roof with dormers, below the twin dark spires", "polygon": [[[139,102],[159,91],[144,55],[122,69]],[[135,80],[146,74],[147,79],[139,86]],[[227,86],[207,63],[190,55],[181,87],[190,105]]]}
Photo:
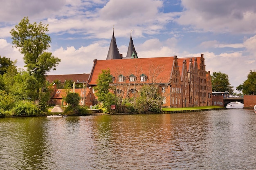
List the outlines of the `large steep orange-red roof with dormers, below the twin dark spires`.
{"label": "large steep orange-red roof with dormers, below the twin dark spires", "polygon": [[174,57],[154,57],[116,60],[94,60],[89,84],[97,84],[96,80],[102,70],[110,69],[110,74],[117,78],[119,75],[139,77],[144,74],[148,82],[167,83],[171,77]]}

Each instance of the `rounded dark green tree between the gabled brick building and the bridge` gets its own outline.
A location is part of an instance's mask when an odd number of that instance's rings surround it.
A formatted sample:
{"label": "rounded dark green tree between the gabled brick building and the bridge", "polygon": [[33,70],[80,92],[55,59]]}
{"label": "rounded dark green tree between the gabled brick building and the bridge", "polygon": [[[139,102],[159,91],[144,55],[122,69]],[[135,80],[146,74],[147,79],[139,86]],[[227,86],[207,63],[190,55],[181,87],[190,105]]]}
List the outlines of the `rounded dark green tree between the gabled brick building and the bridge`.
{"label": "rounded dark green tree between the gabled brick building and the bridge", "polygon": [[211,75],[212,91],[233,93],[233,86],[230,86],[229,76],[221,72],[213,72]]}

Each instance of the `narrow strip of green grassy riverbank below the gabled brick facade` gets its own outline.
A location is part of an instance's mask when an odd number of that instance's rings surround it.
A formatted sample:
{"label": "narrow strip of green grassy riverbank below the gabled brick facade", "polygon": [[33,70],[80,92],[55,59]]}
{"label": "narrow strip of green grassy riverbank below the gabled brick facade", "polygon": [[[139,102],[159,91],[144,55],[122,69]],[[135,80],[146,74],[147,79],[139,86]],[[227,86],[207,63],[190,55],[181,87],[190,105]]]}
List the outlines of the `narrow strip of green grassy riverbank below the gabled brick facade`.
{"label": "narrow strip of green grassy riverbank below the gabled brick facade", "polygon": [[184,112],[198,112],[206,110],[220,110],[225,107],[220,106],[197,106],[197,107],[186,107],[186,108],[162,108],[162,113],[184,113]]}

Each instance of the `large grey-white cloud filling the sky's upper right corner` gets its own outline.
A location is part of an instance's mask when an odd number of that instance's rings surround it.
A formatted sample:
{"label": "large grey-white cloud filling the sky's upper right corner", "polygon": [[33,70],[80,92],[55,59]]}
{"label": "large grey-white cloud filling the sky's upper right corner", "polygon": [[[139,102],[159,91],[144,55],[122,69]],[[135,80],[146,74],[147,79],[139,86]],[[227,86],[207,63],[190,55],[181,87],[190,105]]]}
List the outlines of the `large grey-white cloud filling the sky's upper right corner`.
{"label": "large grey-white cloud filling the sky's upper right corner", "polygon": [[256,33],[255,0],[181,0],[177,22],[212,32]]}

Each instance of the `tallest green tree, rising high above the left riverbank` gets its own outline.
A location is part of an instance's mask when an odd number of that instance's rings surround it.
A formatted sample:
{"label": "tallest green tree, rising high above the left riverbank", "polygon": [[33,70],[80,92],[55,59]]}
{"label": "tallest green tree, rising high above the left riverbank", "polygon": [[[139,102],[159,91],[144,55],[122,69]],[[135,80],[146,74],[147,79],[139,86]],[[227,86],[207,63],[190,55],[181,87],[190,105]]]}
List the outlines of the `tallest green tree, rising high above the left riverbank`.
{"label": "tallest green tree, rising high above the left riverbank", "polygon": [[36,78],[36,89],[38,99],[45,90],[45,76],[50,70],[56,70],[56,66],[61,61],[54,57],[52,53],[46,52],[50,47],[51,38],[45,32],[48,31],[48,25],[40,22],[37,24],[29,23],[28,17],[24,17],[15,29],[11,29],[12,44],[19,48],[24,55],[23,60],[27,71]]}

